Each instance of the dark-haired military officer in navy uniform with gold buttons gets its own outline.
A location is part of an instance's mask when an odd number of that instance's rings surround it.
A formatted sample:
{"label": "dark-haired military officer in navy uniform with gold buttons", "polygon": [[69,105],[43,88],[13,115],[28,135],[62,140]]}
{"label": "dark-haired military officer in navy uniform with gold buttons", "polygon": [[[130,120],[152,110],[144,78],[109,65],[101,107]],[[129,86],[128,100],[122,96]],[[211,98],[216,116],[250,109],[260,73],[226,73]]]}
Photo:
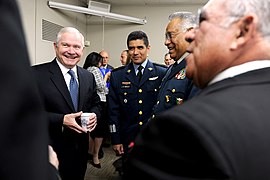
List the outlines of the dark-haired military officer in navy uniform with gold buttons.
{"label": "dark-haired military officer in navy uniform with gold buttons", "polygon": [[131,32],[127,46],[132,63],[112,71],[108,95],[111,140],[118,155],[128,152],[128,146],[151,117],[167,69],[147,58],[150,45],[143,31]]}

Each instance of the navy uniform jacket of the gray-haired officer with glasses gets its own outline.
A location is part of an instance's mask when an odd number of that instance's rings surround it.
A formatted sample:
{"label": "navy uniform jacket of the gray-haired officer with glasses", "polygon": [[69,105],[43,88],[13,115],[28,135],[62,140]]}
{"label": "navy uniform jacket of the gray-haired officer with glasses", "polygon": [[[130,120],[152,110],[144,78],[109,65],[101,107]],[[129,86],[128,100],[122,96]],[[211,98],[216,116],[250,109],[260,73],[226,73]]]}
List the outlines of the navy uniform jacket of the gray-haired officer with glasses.
{"label": "navy uniform jacket of the gray-haired officer with glasses", "polygon": [[186,77],[185,59],[179,64],[175,62],[168,68],[162,80],[152,118],[162,111],[182,104],[198,91],[199,89],[193,84],[192,80]]}

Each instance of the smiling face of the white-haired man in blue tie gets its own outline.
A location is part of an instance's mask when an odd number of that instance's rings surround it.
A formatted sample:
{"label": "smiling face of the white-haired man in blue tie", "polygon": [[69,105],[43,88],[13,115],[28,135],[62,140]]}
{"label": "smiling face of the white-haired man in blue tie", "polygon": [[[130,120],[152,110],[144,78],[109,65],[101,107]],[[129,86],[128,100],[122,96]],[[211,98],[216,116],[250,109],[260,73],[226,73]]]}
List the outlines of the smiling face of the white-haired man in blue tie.
{"label": "smiling face of the white-haired man in blue tie", "polygon": [[57,59],[66,68],[73,68],[81,59],[83,44],[81,36],[76,32],[65,32],[59,41],[54,43]]}

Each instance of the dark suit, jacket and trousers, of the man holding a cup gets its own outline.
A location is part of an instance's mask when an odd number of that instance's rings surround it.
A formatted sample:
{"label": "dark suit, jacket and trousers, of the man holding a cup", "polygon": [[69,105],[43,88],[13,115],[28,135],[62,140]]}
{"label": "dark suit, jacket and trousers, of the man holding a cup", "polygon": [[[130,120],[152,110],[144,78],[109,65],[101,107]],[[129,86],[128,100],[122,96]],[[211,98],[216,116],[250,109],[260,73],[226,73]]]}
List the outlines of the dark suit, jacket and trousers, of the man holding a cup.
{"label": "dark suit, jacket and trousers, of the man holding a cup", "polygon": [[[74,113],[68,87],[56,60],[33,66],[40,93],[49,117],[51,144],[59,158],[63,179],[83,179],[87,167],[88,134],[63,128],[65,114]],[[92,73],[77,66],[79,80],[78,111],[94,112],[100,117],[99,96]],[[80,120],[77,120],[80,124]],[[62,129],[63,128],[63,129]]]}

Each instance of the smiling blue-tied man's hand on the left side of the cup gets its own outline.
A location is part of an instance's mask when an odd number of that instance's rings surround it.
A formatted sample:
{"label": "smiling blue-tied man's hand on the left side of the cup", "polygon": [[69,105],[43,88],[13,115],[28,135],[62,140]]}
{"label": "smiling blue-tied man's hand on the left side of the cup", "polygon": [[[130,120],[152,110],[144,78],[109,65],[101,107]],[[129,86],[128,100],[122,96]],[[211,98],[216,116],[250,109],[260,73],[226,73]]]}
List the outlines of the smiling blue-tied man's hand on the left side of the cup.
{"label": "smiling blue-tied man's hand on the left side of the cup", "polygon": [[71,113],[71,114],[66,114],[64,116],[64,122],[63,125],[78,132],[78,133],[86,133],[87,131],[83,129],[77,122],[76,118],[80,118],[82,115],[82,111],[77,112],[77,113]]}

